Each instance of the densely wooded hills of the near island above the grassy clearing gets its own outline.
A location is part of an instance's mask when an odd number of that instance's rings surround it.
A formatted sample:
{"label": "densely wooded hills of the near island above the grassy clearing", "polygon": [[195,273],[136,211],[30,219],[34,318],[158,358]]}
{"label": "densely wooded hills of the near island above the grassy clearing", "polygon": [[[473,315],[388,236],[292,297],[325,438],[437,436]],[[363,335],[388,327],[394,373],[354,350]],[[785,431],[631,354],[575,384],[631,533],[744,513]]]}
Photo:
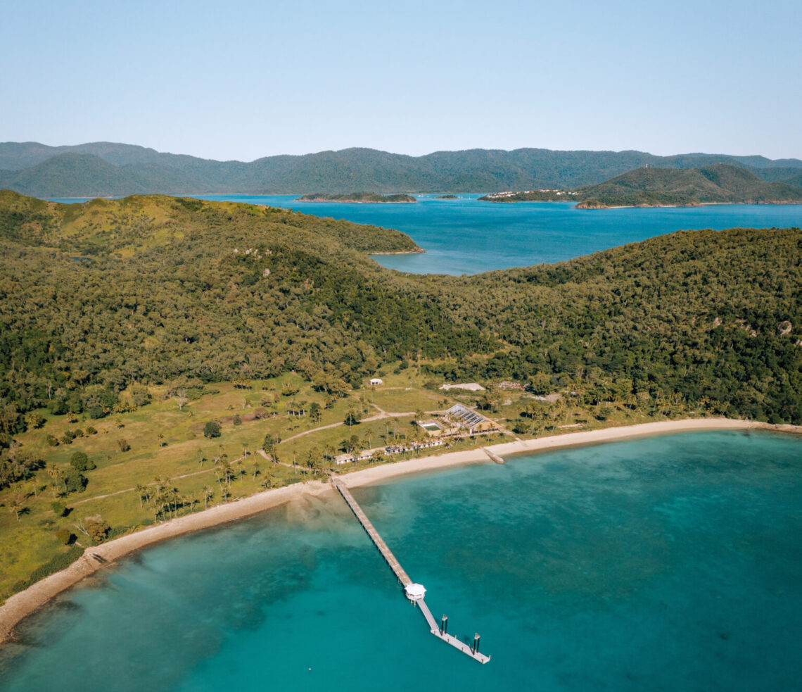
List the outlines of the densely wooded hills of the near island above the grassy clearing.
{"label": "densely wooded hills of the near island above the grassy clearing", "polygon": [[294,369],[340,391],[398,360],[435,384],[516,379],[802,422],[799,229],[688,231],[468,278],[367,256],[414,248],[259,206],[2,192],[0,444],[40,406],[103,417],[133,382]]}

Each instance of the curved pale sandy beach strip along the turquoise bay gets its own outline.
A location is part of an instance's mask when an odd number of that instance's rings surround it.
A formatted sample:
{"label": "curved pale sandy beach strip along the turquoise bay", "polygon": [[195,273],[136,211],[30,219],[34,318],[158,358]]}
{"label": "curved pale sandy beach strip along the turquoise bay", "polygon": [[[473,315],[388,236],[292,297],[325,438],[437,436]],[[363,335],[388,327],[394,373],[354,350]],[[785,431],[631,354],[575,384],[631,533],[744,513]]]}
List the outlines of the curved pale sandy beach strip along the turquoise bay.
{"label": "curved pale sandy beach strip along the turquoise bay", "polygon": [[[578,433],[564,433],[533,440],[501,442],[486,448],[461,452],[446,452],[431,456],[409,459],[403,462],[373,466],[338,476],[349,488],[383,482],[407,474],[441,470],[452,466],[466,466],[475,463],[491,463],[491,454],[507,457],[516,454],[533,454],[561,447],[583,446],[601,442],[616,442],[630,438],[643,438],[658,434],[691,432],[694,430],[739,430],[764,429],[776,432],[802,434],[800,425],[772,425],[759,421],[745,421],[734,418],[685,418],[679,421],[656,421],[638,423],[614,428],[585,430]],[[486,451],[487,450],[487,451]],[[32,584],[24,591],[9,596],[0,606],[0,647],[14,641],[14,628],[26,617],[47,605],[55,596],[79,584],[87,576],[99,572],[124,556],[141,548],[161,541],[186,535],[194,531],[221,526],[225,523],[245,519],[262,511],[290,503],[304,497],[317,497],[334,492],[334,487],[321,481],[298,482],[290,486],[274,488],[251,495],[232,503],[209,507],[196,514],[170,519],[152,527],[120,536],[99,546],[87,547],[83,556],[60,572]]]}

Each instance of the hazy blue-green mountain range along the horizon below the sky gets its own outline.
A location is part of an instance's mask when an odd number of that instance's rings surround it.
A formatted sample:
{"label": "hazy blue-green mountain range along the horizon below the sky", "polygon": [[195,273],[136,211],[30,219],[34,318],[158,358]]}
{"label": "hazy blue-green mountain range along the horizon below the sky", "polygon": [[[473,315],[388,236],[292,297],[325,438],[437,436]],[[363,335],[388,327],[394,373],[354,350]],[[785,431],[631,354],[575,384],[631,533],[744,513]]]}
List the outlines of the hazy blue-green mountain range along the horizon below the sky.
{"label": "hazy blue-green mountain range along the horizon below the sky", "polygon": [[802,173],[802,161],[681,154],[549,149],[469,149],[422,157],[343,149],[305,156],[210,161],[144,147],[94,142],[49,147],[0,143],[0,188],[37,197],[102,197],[134,193],[375,193],[570,189],[595,185],[642,166],[694,168],[727,163],[766,181]]}

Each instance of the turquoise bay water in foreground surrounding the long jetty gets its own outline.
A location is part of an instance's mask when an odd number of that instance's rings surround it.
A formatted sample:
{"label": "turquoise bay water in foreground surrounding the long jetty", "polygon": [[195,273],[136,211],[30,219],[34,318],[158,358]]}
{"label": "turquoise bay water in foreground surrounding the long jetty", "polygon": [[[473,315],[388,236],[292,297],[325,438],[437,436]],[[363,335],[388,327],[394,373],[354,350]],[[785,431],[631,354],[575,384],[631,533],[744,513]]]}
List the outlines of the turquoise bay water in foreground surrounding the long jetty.
{"label": "turquoise bay water in foreground surrounding the long jetty", "polygon": [[140,552],[6,649],[38,690],[792,690],[802,440],[719,432],[360,488],[431,637],[342,499]]}

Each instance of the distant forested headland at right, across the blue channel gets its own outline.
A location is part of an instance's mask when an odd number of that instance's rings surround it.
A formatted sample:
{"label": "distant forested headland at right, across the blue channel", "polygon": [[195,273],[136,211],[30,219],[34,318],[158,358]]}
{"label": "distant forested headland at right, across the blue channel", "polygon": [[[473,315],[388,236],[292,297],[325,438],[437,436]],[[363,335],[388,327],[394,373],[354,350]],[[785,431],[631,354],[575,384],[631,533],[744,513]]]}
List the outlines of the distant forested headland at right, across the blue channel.
{"label": "distant forested headland at right, across the blue channel", "polygon": [[688,206],[711,202],[802,202],[799,177],[766,182],[746,169],[714,164],[699,169],[641,168],[579,188],[579,208]]}

